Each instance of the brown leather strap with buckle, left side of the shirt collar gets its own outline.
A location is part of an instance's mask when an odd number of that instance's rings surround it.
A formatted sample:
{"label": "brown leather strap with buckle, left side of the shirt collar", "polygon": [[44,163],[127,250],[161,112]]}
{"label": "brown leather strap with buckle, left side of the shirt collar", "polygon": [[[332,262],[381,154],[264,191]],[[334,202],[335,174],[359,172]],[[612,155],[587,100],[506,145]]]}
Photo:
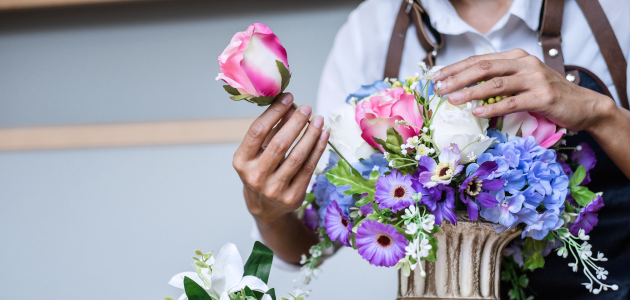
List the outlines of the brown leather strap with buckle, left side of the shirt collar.
{"label": "brown leather strap with buckle, left side of the shirt collar", "polygon": [[[437,52],[444,47],[444,37],[431,26],[429,15],[422,7],[422,4],[416,0],[403,0],[401,2],[387,50],[384,71],[384,77],[386,78],[398,77],[407,30],[412,22],[416,27],[418,41],[420,41],[420,45],[427,53],[423,61],[428,67],[435,65]],[[435,37],[435,42],[429,38],[429,32]]]}

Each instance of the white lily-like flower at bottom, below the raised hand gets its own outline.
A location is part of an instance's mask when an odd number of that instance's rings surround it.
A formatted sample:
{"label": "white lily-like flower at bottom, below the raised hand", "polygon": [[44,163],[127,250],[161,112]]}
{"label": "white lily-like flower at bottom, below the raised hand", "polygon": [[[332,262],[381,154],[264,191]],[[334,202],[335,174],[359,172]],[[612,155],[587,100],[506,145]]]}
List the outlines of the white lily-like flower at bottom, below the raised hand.
{"label": "white lily-like flower at bottom, below the raised hand", "polygon": [[[244,265],[241,255],[236,246],[227,243],[216,259],[210,258],[206,263],[212,265],[209,269],[201,269],[201,272],[182,272],[179,273],[168,282],[168,284],[184,289],[184,277],[194,280],[199,286],[203,287],[210,297],[218,300],[230,300],[229,294],[240,291],[248,286],[250,289],[259,292],[267,292],[267,285],[255,276],[243,276]],[[201,276],[201,277],[200,277]],[[210,276],[208,280],[207,276]],[[187,300],[186,293],[182,294],[178,300]],[[263,300],[271,300],[271,296],[265,295]]]}

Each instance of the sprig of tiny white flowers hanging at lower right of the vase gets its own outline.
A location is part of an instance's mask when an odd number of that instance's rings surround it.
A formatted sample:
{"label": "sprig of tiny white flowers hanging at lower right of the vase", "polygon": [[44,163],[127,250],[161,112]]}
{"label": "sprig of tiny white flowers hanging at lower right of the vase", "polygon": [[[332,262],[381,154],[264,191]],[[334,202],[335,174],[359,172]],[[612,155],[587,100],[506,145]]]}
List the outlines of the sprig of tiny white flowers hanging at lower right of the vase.
{"label": "sprig of tiny white flowers hanging at lower right of the vase", "polygon": [[[573,272],[577,272],[579,265],[582,264],[584,275],[586,275],[586,278],[589,280],[589,282],[582,283],[582,285],[585,286],[589,292],[599,294],[602,290],[607,291],[609,288],[613,291],[619,289],[619,286],[616,284],[608,285],[600,281],[608,278],[608,271],[602,267],[598,267],[594,262],[607,261],[608,258],[604,257],[604,254],[600,252],[597,253],[597,258],[592,256],[593,251],[591,248],[593,246],[587,242],[590,237],[584,233],[584,229],[580,229],[578,236],[574,237],[566,228],[563,228],[558,231],[558,237],[564,244],[562,247],[557,249],[558,256],[567,258],[569,253],[573,255],[575,262],[569,263],[569,267],[573,269]],[[580,245],[578,241],[583,241],[583,243]],[[591,269],[595,271],[595,275],[593,275]],[[595,284],[599,284],[599,287],[593,289]]]}

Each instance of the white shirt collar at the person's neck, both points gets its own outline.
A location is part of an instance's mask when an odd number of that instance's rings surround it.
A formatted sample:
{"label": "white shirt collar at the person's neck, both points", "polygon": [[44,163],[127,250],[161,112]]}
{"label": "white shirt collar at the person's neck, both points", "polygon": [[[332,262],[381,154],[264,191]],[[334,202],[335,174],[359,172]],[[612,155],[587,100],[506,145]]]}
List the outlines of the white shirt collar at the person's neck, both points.
{"label": "white shirt collar at the person's neck, both points", "polygon": [[[440,33],[449,35],[459,35],[465,32],[478,33],[459,17],[449,0],[421,0],[421,2],[431,17],[431,25]],[[488,33],[505,26],[510,15],[520,18],[527,27],[536,31],[541,7],[542,0],[514,0],[506,13],[508,17],[502,17]]]}

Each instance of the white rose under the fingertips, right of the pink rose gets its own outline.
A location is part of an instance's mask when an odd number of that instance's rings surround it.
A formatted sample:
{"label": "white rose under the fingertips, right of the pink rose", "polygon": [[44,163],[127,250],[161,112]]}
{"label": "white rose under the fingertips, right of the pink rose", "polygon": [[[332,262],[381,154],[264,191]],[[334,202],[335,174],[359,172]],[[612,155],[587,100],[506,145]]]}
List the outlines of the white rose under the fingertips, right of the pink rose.
{"label": "white rose under the fingertips, right of the pink rose", "polygon": [[461,163],[475,161],[494,140],[486,136],[488,119],[477,118],[472,114],[475,107],[481,106],[481,101],[475,100],[457,106],[444,101],[436,112],[438,103],[439,98],[436,98],[430,105],[436,114],[432,124],[435,126],[435,145],[442,150],[451,143],[457,144],[462,155]]}

